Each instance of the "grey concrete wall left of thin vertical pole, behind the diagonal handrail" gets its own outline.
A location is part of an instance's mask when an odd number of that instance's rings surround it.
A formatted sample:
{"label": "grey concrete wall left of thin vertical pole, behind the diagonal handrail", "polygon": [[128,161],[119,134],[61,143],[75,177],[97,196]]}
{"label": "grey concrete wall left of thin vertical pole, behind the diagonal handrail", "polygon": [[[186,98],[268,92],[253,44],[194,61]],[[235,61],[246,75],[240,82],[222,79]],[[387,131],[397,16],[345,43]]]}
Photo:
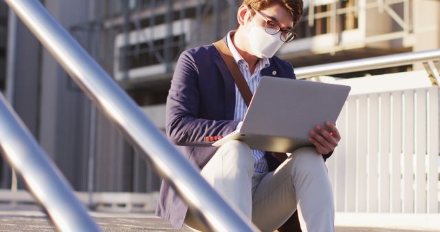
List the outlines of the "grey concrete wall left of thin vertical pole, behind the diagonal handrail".
{"label": "grey concrete wall left of thin vertical pole, behind the diagonal handrail", "polygon": [[[87,1],[45,1],[45,7],[66,28],[85,18],[83,4]],[[58,62],[47,50],[39,56],[39,122],[38,137],[42,148],[54,159],[58,168],[77,190],[87,186],[87,146],[89,138],[89,102],[69,80]],[[37,74],[38,73],[38,74]],[[21,91],[16,91],[20,93]],[[28,106],[33,105],[29,104]]]}

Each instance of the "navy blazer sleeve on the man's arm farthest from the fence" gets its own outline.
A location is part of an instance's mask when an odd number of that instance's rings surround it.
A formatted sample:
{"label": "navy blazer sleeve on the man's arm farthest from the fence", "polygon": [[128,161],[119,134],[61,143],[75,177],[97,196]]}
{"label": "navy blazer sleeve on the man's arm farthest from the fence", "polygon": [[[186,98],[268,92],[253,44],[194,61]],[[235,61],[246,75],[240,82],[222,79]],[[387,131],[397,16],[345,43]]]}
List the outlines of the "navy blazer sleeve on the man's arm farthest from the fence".
{"label": "navy blazer sleeve on the man's arm farthest from the fence", "polygon": [[195,59],[184,51],[177,61],[166,100],[166,135],[179,146],[210,146],[204,138],[228,135],[239,121],[198,118],[199,73]]}

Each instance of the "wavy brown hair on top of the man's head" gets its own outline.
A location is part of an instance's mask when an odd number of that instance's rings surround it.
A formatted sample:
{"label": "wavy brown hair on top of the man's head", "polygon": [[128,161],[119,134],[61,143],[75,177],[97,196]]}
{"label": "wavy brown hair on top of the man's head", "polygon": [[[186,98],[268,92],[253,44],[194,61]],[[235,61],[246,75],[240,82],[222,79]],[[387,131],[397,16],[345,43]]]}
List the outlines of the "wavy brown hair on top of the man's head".
{"label": "wavy brown hair on top of the man's head", "polygon": [[255,10],[264,10],[274,4],[280,4],[289,10],[294,25],[298,24],[303,15],[303,0],[244,0],[241,5],[250,5]]}

